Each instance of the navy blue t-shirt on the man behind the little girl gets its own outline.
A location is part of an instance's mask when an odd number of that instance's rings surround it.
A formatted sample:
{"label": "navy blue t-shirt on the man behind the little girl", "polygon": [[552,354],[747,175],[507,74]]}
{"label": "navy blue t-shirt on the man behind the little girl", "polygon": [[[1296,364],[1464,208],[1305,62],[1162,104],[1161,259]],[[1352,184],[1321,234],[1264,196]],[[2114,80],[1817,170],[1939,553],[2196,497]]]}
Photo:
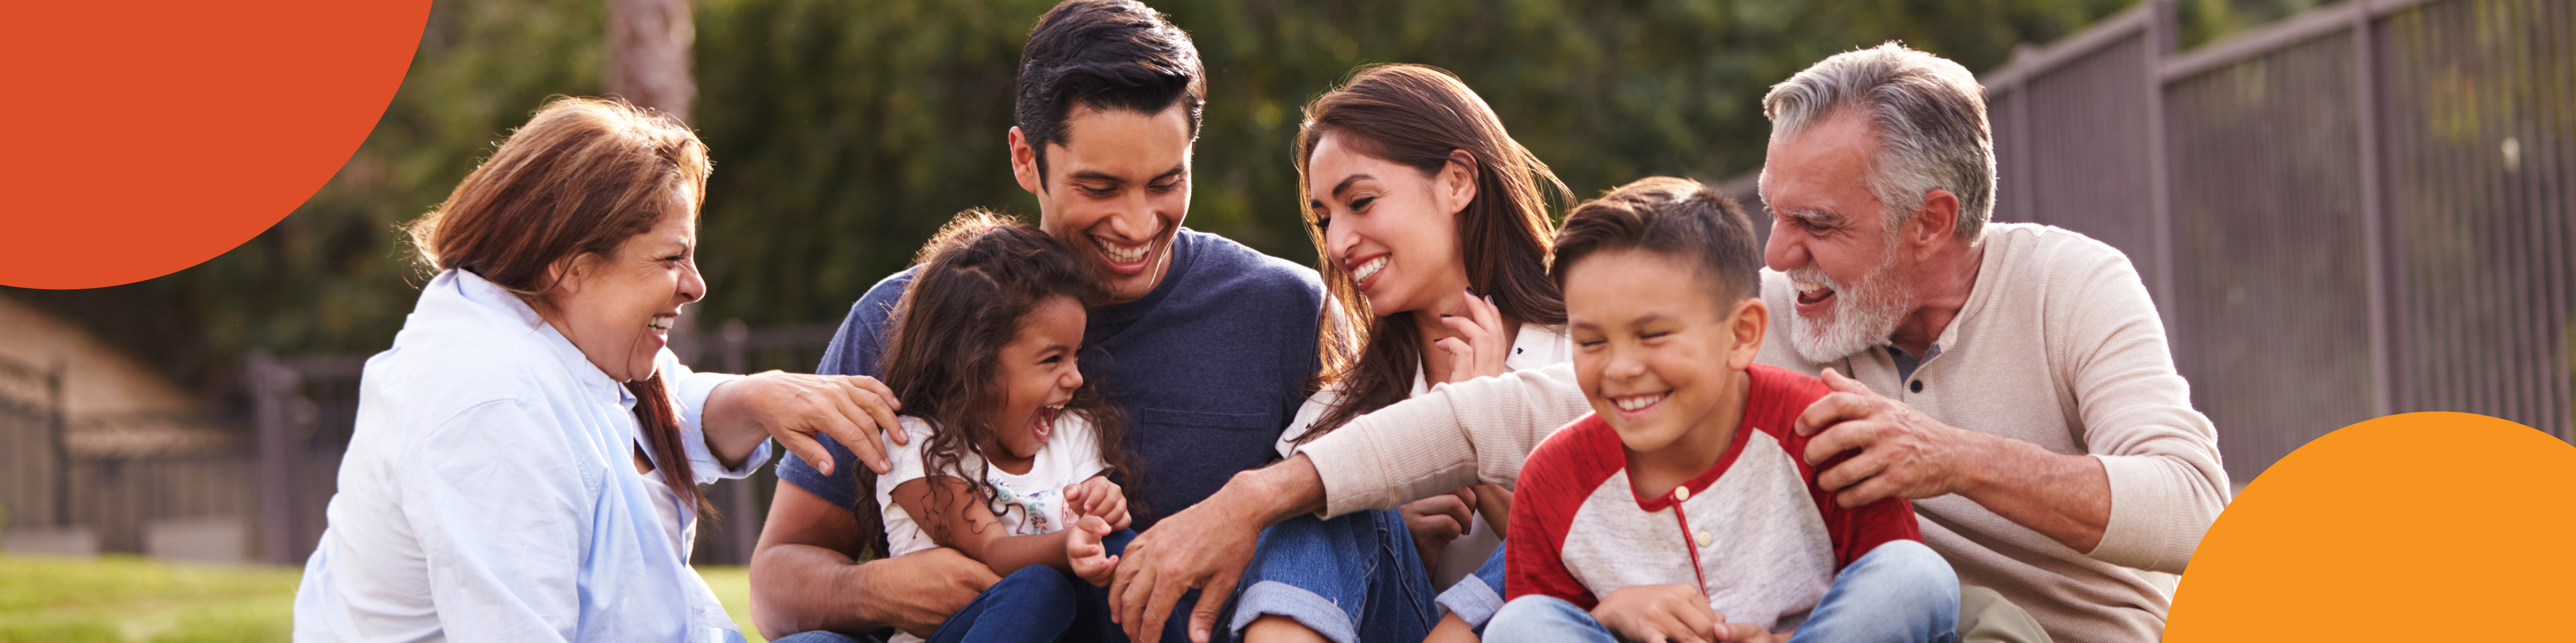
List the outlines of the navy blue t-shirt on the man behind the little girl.
{"label": "navy blue t-shirt on the man behind the little girl", "polygon": [[[868,288],[840,322],[814,373],[881,378],[889,314],[912,270]],[[1180,229],[1172,267],[1151,293],[1090,309],[1082,370],[1126,412],[1126,445],[1144,484],[1128,491],[1136,530],[1198,504],[1236,471],[1278,460],[1278,437],[1306,401],[1319,368],[1316,319],[1324,280],[1311,267],[1255,252],[1226,237]],[[788,453],[778,478],[853,507],[858,455],[817,435],[835,476]],[[1141,491],[1141,494],[1139,494]]]}

